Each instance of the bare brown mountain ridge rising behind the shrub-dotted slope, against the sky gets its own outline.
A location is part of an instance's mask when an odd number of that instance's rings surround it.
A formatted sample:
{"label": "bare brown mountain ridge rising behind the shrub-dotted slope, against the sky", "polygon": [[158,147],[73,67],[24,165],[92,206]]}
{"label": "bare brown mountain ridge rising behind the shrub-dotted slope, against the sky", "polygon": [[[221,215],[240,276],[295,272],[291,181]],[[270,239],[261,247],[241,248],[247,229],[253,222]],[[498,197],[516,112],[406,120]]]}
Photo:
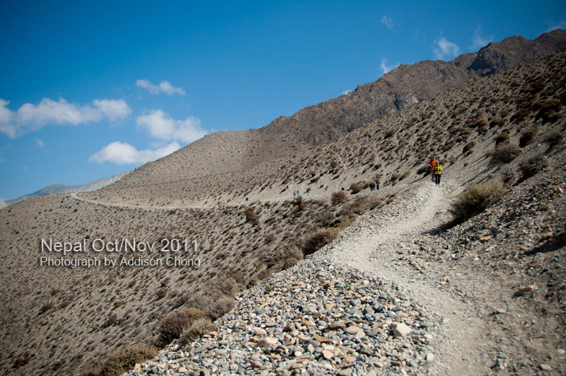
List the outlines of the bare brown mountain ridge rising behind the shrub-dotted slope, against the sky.
{"label": "bare brown mountain ridge rising behind the shrub-dotted slope, against the sky", "polygon": [[[517,67],[566,50],[566,30],[535,40],[509,37],[451,62],[403,64],[354,91],[282,116],[257,130],[216,132],[122,178],[116,187],[179,181],[247,169],[266,160],[291,156],[325,144],[347,132],[431,98],[470,79]],[[216,149],[219,154],[209,151]]]}

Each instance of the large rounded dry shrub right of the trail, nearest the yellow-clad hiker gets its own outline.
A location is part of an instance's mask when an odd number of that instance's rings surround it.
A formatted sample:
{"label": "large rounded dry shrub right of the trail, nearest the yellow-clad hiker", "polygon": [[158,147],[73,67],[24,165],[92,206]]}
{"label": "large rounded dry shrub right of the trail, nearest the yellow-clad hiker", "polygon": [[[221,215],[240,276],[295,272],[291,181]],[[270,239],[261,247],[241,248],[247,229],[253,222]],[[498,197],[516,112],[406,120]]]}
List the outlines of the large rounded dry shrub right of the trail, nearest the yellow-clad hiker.
{"label": "large rounded dry shrub right of the trail, nearest the yellow-clad hiker", "polygon": [[505,190],[499,182],[470,186],[458,195],[449,211],[456,222],[464,222],[497,203],[504,194]]}

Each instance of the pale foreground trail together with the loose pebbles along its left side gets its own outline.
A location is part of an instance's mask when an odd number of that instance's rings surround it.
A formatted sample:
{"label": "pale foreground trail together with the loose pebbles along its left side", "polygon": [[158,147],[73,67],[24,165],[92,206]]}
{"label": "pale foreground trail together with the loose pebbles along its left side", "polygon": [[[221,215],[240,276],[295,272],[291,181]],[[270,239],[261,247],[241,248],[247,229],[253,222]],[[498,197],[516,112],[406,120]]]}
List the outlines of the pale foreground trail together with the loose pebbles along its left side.
{"label": "pale foreground trail together with the loose pebbles along its left side", "polygon": [[473,302],[407,258],[446,221],[450,187],[408,186],[308,260],[243,292],[212,335],[174,342],[125,375],[486,372]]}

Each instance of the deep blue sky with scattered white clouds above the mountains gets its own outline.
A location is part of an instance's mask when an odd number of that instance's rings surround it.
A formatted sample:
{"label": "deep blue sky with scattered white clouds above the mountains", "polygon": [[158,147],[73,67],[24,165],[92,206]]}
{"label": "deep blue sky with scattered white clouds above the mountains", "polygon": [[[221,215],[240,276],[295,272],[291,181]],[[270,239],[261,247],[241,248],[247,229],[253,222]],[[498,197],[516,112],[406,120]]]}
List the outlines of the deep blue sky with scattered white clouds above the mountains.
{"label": "deep blue sky with scattered white clouds above the mountains", "polygon": [[217,130],[566,28],[566,1],[2,1],[0,198],[130,171]]}

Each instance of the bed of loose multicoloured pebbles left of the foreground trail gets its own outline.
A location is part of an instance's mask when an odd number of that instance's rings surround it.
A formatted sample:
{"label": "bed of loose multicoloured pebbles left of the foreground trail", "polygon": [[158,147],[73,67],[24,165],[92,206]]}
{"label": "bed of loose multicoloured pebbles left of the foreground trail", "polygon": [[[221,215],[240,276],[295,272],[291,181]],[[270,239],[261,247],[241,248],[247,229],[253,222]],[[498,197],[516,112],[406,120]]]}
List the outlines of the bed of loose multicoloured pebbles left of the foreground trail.
{"label": "bed of loose multicoloured pebbles left of the foreground trail", "polygon": [[216,336],[185,348],[173,341],[122,375],[383,375],[409,365],[426,373],[437,323],[415,304],[394,283],[313,257],[244,291],[215,321]]}

